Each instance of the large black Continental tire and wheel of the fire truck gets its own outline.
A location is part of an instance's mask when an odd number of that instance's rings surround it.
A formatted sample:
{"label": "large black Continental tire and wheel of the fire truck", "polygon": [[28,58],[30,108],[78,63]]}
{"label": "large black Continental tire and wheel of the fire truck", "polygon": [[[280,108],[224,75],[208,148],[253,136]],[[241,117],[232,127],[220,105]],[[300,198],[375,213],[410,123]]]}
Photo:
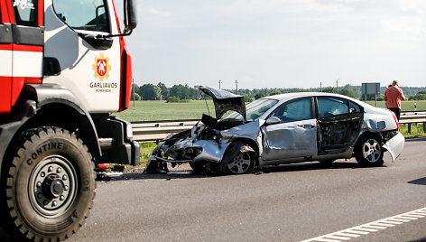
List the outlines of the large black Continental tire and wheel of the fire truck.
{"label": "large black Continental tire and wheel of the fire truck", "polygon": [[59,127],[32,129],[20,140],[4,167],[1,209],[7,228],[15,237],[62,241],[84,224],[93,205],[92,156],[76,135]]}

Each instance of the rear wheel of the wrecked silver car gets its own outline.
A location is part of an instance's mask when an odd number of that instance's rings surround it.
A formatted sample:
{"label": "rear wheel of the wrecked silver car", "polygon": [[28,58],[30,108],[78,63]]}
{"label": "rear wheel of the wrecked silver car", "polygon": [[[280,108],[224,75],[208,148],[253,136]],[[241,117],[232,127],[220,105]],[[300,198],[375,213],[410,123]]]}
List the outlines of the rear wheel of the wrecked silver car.
{"label": "rear wheel of the wrecked silver car", "polygon": [[381,166],[384,163],[383,160],[384,151],[379,140],[373,135],[364,136],[355,147],[355,157],[357,163],[362,166]]}

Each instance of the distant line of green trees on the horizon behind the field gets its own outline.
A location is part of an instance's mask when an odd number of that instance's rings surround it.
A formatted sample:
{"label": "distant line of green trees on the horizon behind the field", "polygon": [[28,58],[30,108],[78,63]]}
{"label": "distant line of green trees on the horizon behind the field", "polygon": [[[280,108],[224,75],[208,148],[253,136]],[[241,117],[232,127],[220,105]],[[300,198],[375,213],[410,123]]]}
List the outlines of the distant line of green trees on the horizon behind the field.
{"label": "distant line of green trees on the horizon behind the field", "polygon": [[[179,102],[182,100],[209,98],[207,95],[202,94],[199,89],[190,88],[188,85],[182,84],[173,85],[171,88],[167,88],[162,82],[159,82],[157,85],[144,84],[140,87],[137,84],[134,84],[133,88],[134,90],[132,89],[132,93],[134,93],[134,95],[132,95],[132,100],[168,100],[171,102]],[[386,87],[382,87],[380,89],[382,94],[377,95],[378,101],[383,100],[383,93],[385,89]],[[426,100],[426,88],[402,87],[402,89],[405,97],[409,98],[409,100]],[[236,93],[236,89],[227,89],[227,91]],[[244,96],[246,102],[250,102],[254,99],[264,98],[275,94],[307,91],[339,93],[347,97],[365,100],[365,97],[362,95],[361,86],[352,85],[346,85],[339,88],[243,88],[238,89],[237,94]],[[375,100],[375,95],[367,95],[366,99]]]}

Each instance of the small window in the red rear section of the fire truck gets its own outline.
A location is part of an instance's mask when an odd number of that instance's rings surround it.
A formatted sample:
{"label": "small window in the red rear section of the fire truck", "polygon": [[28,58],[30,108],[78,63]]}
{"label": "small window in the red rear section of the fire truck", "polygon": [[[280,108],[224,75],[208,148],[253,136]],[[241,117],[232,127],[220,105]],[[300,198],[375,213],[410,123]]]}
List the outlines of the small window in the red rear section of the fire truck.
{"label": "small window in the red rear section of the fire truck", "polygon": [[37,0],[14,0],[14,20],[17,25],[32,26],[38,25]]}

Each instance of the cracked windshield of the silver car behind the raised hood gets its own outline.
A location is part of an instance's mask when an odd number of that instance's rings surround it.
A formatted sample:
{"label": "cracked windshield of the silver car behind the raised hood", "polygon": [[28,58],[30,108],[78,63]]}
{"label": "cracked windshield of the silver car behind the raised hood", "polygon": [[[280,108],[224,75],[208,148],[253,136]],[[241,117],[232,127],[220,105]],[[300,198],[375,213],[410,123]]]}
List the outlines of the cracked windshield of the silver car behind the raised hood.
{"label": "cracked windshield of the silver car behind the raised hood", "polygon": [[[255,119],[259,116],[262,116],[267,110],[273,107],[278,100],[275,99],[257,99],[254,102],[249,103],[245,107],[245,113],[247,116],[247,122],[255,121]],[[223,118],[224,120],[240,120],[244,121],[244,117],[237,112],[233,112],[232,114]]]}

